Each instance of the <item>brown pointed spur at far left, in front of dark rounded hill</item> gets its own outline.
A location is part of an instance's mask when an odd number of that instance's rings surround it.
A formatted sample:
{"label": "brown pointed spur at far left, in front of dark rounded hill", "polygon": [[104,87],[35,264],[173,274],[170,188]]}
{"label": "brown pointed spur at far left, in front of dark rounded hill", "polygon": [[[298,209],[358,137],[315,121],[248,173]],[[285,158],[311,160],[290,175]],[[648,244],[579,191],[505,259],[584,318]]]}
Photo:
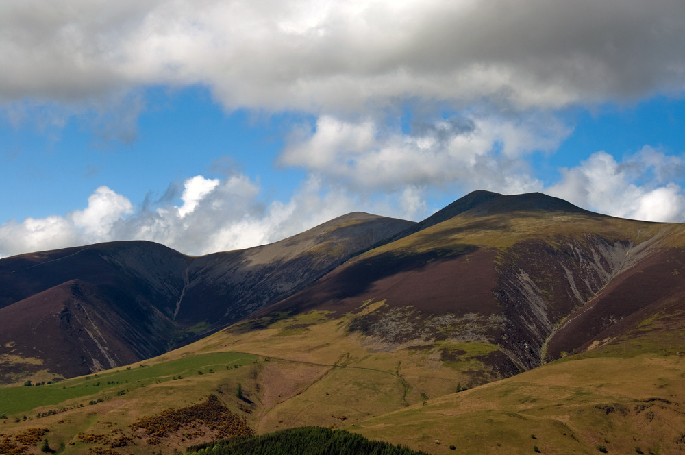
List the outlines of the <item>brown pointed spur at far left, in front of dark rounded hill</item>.
{"label": "brown pointed spur at far left, in front of dark rounded hill", "polygon": [[3,324],[3,356],[11,363],[2,365],[0,381],[36,373],[43,380],[76,376],[164,351],[160,332],[172,332],[168,320],[123,311],[102,294],[72,280],[0,308],[0,320],[12,322]]}

